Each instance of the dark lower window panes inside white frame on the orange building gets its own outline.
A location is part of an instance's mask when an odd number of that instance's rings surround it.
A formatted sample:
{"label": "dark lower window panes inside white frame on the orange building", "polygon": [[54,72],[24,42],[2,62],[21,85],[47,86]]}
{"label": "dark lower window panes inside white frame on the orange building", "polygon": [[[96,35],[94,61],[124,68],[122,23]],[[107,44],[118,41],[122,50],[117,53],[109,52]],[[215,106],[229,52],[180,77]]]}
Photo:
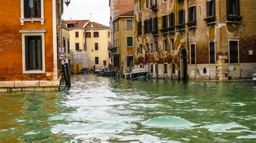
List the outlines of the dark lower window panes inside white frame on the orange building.
{"label": "dark lower window panes inside white frame on the orange building", "polygon": [[26,70],[42,70],[41,39],[41,36],[25,36]]}

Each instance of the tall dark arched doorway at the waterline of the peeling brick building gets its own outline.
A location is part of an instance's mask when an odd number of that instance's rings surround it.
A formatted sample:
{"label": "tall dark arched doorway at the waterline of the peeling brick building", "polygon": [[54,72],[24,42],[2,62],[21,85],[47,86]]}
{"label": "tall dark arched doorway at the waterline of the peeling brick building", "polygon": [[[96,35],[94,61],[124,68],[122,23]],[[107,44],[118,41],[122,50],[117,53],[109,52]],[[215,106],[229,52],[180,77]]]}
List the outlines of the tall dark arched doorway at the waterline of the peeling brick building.
{"label": "tall dark arched doorway at the waterline of the peeling brick building", "polygon": [[184,47],[180,49],[180,78],[187,81],[187,51]]}

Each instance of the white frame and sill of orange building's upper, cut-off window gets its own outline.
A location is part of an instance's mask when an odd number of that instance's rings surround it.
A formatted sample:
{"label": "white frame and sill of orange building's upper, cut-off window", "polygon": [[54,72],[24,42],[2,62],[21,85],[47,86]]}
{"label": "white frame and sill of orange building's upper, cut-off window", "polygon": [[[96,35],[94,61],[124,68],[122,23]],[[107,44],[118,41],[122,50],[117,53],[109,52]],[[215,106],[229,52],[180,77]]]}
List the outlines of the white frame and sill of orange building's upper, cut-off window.
{"label": "white frame and sill of orange building's upper, cut-off window", "polygon": [[19,18],[21,25],[24,25],[24,22],[41,22],[41,25],[44,25],[44,20],[44,0],[41,0],[41,18],[25,18],[24,0],[21,0],[21,18]]}

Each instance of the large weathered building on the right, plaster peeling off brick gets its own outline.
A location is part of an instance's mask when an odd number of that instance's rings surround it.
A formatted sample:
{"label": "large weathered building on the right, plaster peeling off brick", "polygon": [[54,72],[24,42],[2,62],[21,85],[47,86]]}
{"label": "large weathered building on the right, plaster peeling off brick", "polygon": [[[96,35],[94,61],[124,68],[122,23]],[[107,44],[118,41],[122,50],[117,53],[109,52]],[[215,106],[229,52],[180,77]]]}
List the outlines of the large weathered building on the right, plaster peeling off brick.
{"label": "large weathered building on the right, plaster peeling off brick", "polygon": [[[251,78],[253,0],[136,0],[135,65],[177,80]],[[253,53],[254,52],[254,53]]]}

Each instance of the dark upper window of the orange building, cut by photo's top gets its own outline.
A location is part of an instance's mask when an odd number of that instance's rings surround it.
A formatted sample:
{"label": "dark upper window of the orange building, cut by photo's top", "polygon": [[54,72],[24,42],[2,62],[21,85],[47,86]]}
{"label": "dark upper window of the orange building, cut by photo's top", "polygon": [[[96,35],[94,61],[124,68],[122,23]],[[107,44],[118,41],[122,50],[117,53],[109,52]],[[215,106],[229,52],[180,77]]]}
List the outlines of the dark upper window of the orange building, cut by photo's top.
{"label": "dark upper window of the orange building, cut by photo's top", "polygon": [[24,0],[24,18],[41,18],[41,0]]}

